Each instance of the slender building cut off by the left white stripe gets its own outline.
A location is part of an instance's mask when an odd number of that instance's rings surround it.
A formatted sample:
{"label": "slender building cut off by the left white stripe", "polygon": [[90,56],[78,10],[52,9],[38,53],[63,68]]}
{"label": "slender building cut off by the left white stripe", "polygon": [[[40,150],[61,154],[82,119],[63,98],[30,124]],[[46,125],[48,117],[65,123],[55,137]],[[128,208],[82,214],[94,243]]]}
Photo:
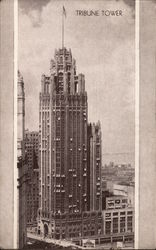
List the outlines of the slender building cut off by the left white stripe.
{"label": "slender building cut off by the left white stripe", "polygon": [[26,182],[27,165],[25,162],[25,93],[23,77],[18,71],[17,84],[17,168],[18,168],[18,194],[17,194],[17,246],[22,248],[26,244]]}

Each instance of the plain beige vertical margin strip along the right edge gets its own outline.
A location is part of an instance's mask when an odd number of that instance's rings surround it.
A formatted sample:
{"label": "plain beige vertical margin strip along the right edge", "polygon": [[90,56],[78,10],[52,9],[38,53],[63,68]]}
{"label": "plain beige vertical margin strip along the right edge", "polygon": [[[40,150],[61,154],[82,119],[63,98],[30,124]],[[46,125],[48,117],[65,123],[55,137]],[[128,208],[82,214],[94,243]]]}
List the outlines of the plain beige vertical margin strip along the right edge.
{"label": "plain beige vertical margin strip along the right edge", "polygon": [[156,1],[140,3],[139,244],[156,246]]}

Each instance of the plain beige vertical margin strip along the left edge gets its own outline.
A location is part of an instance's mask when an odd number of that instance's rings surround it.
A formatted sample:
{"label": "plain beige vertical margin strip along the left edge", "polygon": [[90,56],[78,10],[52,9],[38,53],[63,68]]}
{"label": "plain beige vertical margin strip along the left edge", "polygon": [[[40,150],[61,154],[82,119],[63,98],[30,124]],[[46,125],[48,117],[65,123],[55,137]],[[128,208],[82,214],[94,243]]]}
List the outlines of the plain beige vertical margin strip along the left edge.
{"label": "plain beige vertical margin strip along the left edge", "polygon": [[[0,236],[2,248],[17,248],[18,214],[14,189],[17,166],[14,165],[14,1],[0,1]],[[4,84],[5,83],[5,84]],[[16,82],[15,82],[16,85]],[[6,98],[9,94],[9,98]],[[16,98],[16,96],[15,96]],[[16,99],[17,100],[17,99]],[[3,128],[3,129],[2,129]],[[9,155],[9,157],[8,157]],[[16,160],[16,159],[15,159]],[[12,166],[12,167],[11,167]],[[15,178],[14,178],[15,176]],[[15,182],[14,182],[15,181]],[[3,185],[2,185],[3,183]],[[7,192],[6,192],[7,190]],[[13,202],[15,202],[13,211]],[[17,218],[15,223],[14,218]],[[9,235],[9,237],[8,237]],[[14,235],[16,237],[14,241]]]}

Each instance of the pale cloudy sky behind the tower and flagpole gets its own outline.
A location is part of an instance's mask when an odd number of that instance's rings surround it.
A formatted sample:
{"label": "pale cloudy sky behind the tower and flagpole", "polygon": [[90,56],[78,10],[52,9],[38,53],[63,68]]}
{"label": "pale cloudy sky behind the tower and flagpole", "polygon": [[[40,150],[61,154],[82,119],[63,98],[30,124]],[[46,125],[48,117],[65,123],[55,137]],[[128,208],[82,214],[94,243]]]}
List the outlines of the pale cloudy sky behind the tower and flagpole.
{"label": "pale cloudy sky behind the tower and flagpole", "polygon": [[[38,130],[41,75],[62,44],[62,7],[66,9],[65,47],[77,73],[85,74],[89,122],[100,120],[103,163],[134,165],[135,9],[133,0],[19,0],[18,65],[24,78],[26,128]],[[98,10],[78,16],[76,10]],[[102,16],[121,10],[122,16]]]}

